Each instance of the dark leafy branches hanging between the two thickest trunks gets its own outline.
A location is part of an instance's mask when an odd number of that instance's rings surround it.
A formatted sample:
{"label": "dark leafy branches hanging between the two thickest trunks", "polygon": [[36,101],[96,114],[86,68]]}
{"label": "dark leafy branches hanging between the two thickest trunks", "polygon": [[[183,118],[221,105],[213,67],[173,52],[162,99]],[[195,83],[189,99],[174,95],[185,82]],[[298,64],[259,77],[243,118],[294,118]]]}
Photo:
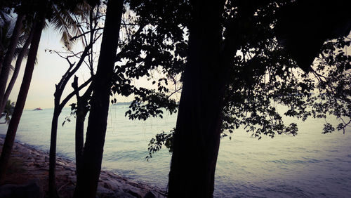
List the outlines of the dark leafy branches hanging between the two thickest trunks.
{"label": "dark leafy branches hanging between the two thickest trunks", "polygon": [[[176,10],[174,8],[177,8]],[[162,117],[164,110],[176,112],[176,100],[168,81],[176,84],[176,76],[183,72],[187,55],[187,1],[127,1],[124,29],[126,39],[120,40],[112,93],[135,96],[126,116],[130,119]],[[172,13],[172,14],[171,14]],[[160,74],[155,77],[152,72]],[[133,79],[146,77],[157,89],[136,87]],[[112,100],[116,103],[117,100]]]}

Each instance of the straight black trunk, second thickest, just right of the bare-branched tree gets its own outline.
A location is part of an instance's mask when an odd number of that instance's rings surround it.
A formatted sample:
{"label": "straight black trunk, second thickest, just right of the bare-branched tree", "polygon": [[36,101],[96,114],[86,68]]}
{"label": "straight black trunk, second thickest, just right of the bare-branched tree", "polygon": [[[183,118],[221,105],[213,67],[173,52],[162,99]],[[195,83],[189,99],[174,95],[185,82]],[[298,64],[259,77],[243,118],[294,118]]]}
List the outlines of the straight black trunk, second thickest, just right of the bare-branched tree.
{"label": "straight black trunk, second thickest, just right of the bare-branched tree", "polygon": [[100,48],[98,70],[93,79],[91,112],[88,119],[86,143],[81,166],[81,182],[77,183],[75,197],[95,197],[101,171],[105,143],[110,88],[117,53],[123,0],[107,2],[104,33]]}

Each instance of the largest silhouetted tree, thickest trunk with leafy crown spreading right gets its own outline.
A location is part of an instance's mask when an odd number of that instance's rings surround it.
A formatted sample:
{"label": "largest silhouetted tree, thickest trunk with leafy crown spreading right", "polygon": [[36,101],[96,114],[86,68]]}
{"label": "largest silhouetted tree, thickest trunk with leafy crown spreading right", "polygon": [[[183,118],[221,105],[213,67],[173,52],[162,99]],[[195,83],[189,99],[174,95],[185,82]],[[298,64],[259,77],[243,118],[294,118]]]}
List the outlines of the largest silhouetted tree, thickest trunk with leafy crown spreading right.
{"label": "largest silhouetted tree, thickest trunk with leafy crown spreading right", "polygon": [[[350,110],[350,105],[347,105],[350,104],[350,100],[347,99],[350,97],[347,96],[349,95],[347,84],[350,84],[350,80],[343,72],[349,67],[347,55],[339,53],[336,55],[339,58],[331,59],[333,61],[328,65],[333,67],[334,72],[325,75],[326,79],[321,79],[324,75],[319,77],[319,73],[312,72],[314,77],[319,79],[319,83],[313,84],[308,74],[298,72],[296,62],[291,60],[274,38],[273,27],[277,21],[283,19],[282,15],[275,13],[280,8],[286,8],[286,5],[297,2],[301,3],[301,1],[208,3],[191,1],[190,46],[183,76],[176,132],[171,147],[173,155],[168,183],[169,197],[212,197],[220,133],[223,129],[232,131],[244,125],[249,127],[247,129],[253,132],[253,136],[259,138],[261,135],[273,137],[275,133],[296,135],[296,124],[285,126],[272,101],[288,105],[289,110],[285,114],[300,119],[306,119],[311,115],[325,117],[327,112],[331,112],[339,119],[347,116],[347,111]],[[345,10],[340,7],[340,5],[345,7],[345,1],[341,2],[344,4],[339,4],[340,2],[337,4],[341,13],[334,18],[333,14],[336,13],[329,12],[327,17],[330,17],[331,21],[343,18],[346,22],[336,27],[329,26],[329,30],[334,31],[333,34],[316,37],[322,44],[326,39],[342,37],[345,36],[345,32],[347,34],[350,32],[350,26],[347,26],[350,25],[350,17],[346,16]],[[315,1],[314,3],[317,4]],[[328,6],[326,4],[324,6],[329,11]],[[299,11],[294,6],[291,9],[292,12]],[[309,7],[307,11],[312,11],[311,9]],[[310,14],[316,13],[313,11]],[[305,15],[305,18],[308,17],[309,15]],[[207,29],[208,24],[211,24],[211,29]],[[300,23],[295,24],[298,29]],[[338,32],[339,28],[343,31]],[[298,31],[296,29],[295,31]],[[289,29],[276,29],[278,39],[282,41],[279,37],[282,34],[279,34],[279,31],[285,34]],[[303,36],[302,32],[298,39],[302,39]],[[311,43],[314,49],[322,47],[320,41]],[[290,44],[294,46],[294,42]],[[335,51],[335,46],[343,48],[349,44],[349,41],[338,41],[332,44],[334,47],[329,45],[324,53],[330,55],[331,51]],[[239,49],[240,51],[237,51]],[[291,53],[291,48],[288,47],[287,51]],[[293,53],[291,54],[294,58]],[[309,60],[307,64],[312,63],[311,56],[315,55],[315,51],[312,54],[302,54],[306,56],[303,57],[305,60]],[[305,70],[306,62],[297,61],[298,66]],[[334,61],[339,61],[335,67],[331,63],[335,63]],[[319,65],[319,72],[325,72],[324,66]],[[336,82],[337,79],[340,81]],[[337,94],[328,91],[326,84],[329,85],[328,88],[337,90]],[[324,88],[326,94],[310,97],[314,88],[319,90]],[[322,98],[330,106],[317,103],[317,98]],[[313,109],[309,111],[306,110],[307,107]],[[334,107],[341,111],[334,111]],[[338,128],[343,128],[349,123],[343,121]],[[326,132],[330,131],[329,129],[331,128],[326,124]]]}

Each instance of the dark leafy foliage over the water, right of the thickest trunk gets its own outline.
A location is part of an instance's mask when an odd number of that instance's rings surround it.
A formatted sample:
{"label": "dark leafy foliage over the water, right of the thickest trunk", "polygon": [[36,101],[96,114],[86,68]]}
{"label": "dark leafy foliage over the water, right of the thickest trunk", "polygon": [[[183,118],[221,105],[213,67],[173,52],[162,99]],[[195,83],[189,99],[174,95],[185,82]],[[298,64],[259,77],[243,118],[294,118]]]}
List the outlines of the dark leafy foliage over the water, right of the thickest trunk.
{"label": "dark leafy foliage over the water, right of the thickest trunk", "polygon": [[[276,15],[278,5],[284,6],[286,1],[261,2],[256,5],[260,8],[253,15],[244,15],[246,18],[242,18],[240,12],[248,5],[240,2],[228,1],[223,16],[224,39],[230,27],[234,26],[241,35],[237,38],[241,48],[233,55],[230,67],[222,136],[233,133],[239,127],[258,139],[262,135],[273,138],[282,133],[296,136],[297,124],[285,124],[283,115],[303,121],[308,117],[326,118],[332,115],[340,120],[336,128],[345,133],[351,112],[351,82],[347,71],[350,69],[350,55],[345,53],[350,39],[340,37],[324,43],[322,48],[319,47],[317,60],[310,72],[304,72],[305,67],[301,70],[296,64],[289,47],[280,45],[275,36],[274,27],[279,21]],[[282,112],[282,107],[287,107],[287,110]],[[331,124],[326,124],[324,133],[334,131],[332,128]],[[168,137],[172,137],[171,133]],[[149,152],[160,143],[165,141],[160,138],[150,141]]]}

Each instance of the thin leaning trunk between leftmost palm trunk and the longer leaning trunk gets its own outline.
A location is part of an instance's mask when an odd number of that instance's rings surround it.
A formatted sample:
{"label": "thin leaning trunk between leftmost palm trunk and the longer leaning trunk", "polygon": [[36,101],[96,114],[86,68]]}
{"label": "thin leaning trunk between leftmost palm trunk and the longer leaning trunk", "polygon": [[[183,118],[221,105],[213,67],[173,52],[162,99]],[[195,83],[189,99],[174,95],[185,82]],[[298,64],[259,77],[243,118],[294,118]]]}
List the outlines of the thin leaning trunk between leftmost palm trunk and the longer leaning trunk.
{"label": "thin leaning trunk between leftmost palm trunk and the longer leaning trunk", "polygon": [[11,80],[10,82],[8,83],[8,86],[6,88],[6,92],[5,92],[5,95],[4,95],[4,98],[3,98],[3,104],[2,106],[0,107],[0,112],[4,112],[4,108],[6,106],[6,103],[7,103],[7,100],[8,100],[8,97],[10,96],[10,93],[12,91],[12,88],[13,86],[15,85],[15,81],[18,77],[18,73],[20,72],[20,67],[22,65],[22,60],[23,58],[25,58],[25,54],[27,53],[27,49],[29,47],[29,44],[30,42],[32,41],[32,38],[33,38],[33,34],[34,34],[34,25],[32,26],[32,29],[30,30],[30,33],[28,35],[28,38],[27,40],[25,41],[25,44],[23,45],[22,47],[22,50],[20,51],[20,54],[18,55],[18,58],[16,60],[16,64],[15,64],[15,70],[13,71],[13,74],[12,74],[12,77],[11,77]]}

